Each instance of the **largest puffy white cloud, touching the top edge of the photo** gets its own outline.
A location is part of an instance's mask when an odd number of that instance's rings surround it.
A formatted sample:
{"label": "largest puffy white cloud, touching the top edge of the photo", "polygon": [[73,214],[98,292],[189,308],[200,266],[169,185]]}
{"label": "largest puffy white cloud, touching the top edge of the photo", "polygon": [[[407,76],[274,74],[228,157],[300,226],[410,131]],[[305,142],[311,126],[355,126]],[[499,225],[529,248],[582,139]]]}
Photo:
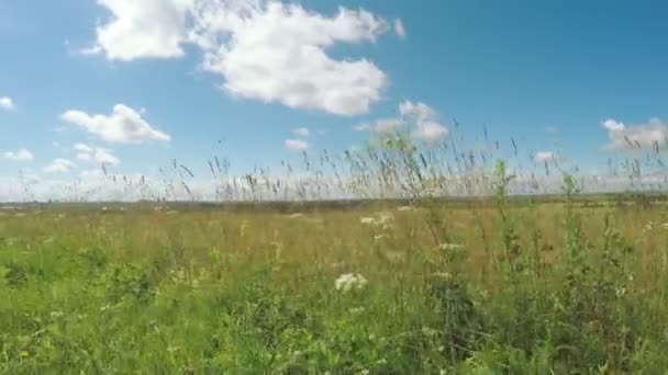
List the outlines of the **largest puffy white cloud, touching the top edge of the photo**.
{"label": "largest puffy white cloud, touching the top edge of the photo", "polygon": [[352,116],[380,100],[388,78],[366,58],[334,58],[342,43],[375,43],[389,23],[363,9],[335,15],[269,0],[100,0],[112,16],[90,53],[109,59],[202,52],[201,68],[231,94]]}

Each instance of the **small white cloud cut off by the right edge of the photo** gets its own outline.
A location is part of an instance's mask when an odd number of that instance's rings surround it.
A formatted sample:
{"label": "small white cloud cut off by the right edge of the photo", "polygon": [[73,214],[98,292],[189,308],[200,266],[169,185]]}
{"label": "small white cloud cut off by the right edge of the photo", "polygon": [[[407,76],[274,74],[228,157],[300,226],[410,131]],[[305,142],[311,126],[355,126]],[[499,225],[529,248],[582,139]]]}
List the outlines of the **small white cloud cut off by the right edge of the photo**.
{"label": "small white cloud cut off by the right edge of the photo", "polygon": [[626,126],[614,120],[601,123],[608,130],[608,150],[658,149],[668,147],[668,123],[650,118],[647,124]]}

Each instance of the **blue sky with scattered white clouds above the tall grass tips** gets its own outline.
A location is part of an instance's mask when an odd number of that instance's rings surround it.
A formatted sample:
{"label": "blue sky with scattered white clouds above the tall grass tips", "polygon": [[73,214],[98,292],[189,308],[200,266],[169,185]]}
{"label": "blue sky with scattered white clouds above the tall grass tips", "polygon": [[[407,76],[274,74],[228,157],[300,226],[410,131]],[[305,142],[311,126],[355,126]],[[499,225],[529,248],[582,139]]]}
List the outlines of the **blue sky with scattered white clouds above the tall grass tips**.
{"label": "blue sky with scattered white clouds above the tall grass tips", "polygon": [[379,120],[601,168],[638,152],[624,136],[667,146],[667,18],[663,1],[1,0],[0,177],[200,173],[213,155],[241,173],[361,145]]}

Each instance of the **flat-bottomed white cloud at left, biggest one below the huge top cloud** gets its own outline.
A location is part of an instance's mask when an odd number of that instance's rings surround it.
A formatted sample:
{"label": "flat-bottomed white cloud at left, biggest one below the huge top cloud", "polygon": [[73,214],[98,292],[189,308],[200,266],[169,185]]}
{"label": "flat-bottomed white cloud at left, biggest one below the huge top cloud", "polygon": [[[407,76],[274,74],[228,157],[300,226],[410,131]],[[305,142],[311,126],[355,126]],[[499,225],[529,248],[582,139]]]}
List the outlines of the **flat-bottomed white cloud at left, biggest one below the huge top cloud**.
{"label": "flat-bottomed white cloud at left, biggest one below the huge top cloud", "polygon": [[81,111],[67,111],[64,122],[93,134],[108,143],[142,144],[151,140],[168,141],[168,134],[154,129],[142,115],[130,106],[116,104],[111,115],[89,115]]}

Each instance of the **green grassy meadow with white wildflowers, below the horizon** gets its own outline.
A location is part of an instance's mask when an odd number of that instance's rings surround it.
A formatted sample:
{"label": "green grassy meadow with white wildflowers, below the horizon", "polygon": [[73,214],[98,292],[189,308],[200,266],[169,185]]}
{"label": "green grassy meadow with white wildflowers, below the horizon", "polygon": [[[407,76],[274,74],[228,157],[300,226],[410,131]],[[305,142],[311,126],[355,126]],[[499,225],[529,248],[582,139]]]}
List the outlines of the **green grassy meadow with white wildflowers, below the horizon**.
{"label": "green grassy meadow with white wildflowers, below the horizon", "polygon": [[0,372],[664,373],[668,213],[570,202],[4,209]]}

